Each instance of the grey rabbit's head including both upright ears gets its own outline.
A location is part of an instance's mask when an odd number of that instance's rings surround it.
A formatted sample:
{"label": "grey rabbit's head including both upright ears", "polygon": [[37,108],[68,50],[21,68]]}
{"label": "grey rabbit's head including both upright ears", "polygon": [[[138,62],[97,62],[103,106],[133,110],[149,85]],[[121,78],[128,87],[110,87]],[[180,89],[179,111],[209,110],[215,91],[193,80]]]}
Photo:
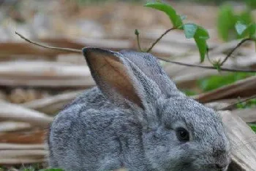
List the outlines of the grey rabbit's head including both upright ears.
{"label": "grey rabbit's head including both upright ears", "polygon": [[227,170],[230,146],[218,114],[178,91],[153,55],[91,47],[83,55],[105,98],[138,118],[152,170]]}

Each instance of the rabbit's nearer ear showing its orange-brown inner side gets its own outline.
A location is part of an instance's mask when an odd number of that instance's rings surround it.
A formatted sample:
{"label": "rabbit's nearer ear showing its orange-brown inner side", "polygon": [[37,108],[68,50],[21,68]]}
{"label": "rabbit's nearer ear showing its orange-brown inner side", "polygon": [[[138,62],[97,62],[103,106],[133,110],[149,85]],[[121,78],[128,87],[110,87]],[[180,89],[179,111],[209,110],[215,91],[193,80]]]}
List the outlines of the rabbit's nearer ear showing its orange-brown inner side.
{"label": "rabbit's nearer ear showing its orange-brown inner side", "polygon": [[138,85],[127,71],[120,53],[86,47],[83,48],[83,55],[99,89],[109,100],[121,105],[129,100],[143,108],[142,100],[136,91]]}

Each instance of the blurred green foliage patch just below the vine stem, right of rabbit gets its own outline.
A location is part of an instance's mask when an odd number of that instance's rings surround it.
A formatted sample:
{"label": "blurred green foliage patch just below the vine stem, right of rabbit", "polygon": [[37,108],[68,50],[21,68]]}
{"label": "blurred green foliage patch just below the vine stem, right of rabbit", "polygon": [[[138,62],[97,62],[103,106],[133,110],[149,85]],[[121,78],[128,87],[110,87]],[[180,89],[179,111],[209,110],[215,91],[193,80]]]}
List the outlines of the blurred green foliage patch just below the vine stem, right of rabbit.
{"label": "blurred green foliage patch just below the vine stem, right of rabbit", "polygon": [[199,87],[203,92],[208,92],[227,84],[232,84],[240,79],[245,79],[248,76],[255,76],[255,73],[230,73],[226,76],[210,76],[206,79],[198,81]]}

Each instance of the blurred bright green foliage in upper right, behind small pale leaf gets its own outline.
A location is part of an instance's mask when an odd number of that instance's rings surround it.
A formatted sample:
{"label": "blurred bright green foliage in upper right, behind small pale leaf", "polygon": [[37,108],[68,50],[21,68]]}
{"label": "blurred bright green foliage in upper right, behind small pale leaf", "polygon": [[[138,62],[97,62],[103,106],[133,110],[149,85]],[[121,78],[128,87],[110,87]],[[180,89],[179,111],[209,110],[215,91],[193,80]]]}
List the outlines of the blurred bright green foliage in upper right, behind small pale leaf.
{"label": "blurred bright green foliage in upper right, behind small pale leaf", "polygon": [[[243,23],[243,25],[237,25],[238,22]],[[241,32],[244,31],[245,25],[249,25],[252,22],[253,18],[249,9],[240,14],[235,14],[233,7],[228,4],[219,8],[217,29],[219,36],[224,41],[244,38]]]}

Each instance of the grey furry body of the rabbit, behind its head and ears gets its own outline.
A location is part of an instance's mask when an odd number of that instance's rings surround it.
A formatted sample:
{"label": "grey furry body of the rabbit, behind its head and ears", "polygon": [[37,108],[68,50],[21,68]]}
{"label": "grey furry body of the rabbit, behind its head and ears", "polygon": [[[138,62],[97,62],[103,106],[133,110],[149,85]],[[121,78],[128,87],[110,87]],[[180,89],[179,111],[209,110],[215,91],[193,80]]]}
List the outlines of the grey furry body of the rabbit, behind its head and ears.
{"label": "grey furry body of the rabbit, behind its head and ears", "polygon": [[61,111],[50,130],[52,167],[82,171],[113,170],[125,165],[133,170],[149,170],[138,119],[131,111],[113,106],[97,87]]}

